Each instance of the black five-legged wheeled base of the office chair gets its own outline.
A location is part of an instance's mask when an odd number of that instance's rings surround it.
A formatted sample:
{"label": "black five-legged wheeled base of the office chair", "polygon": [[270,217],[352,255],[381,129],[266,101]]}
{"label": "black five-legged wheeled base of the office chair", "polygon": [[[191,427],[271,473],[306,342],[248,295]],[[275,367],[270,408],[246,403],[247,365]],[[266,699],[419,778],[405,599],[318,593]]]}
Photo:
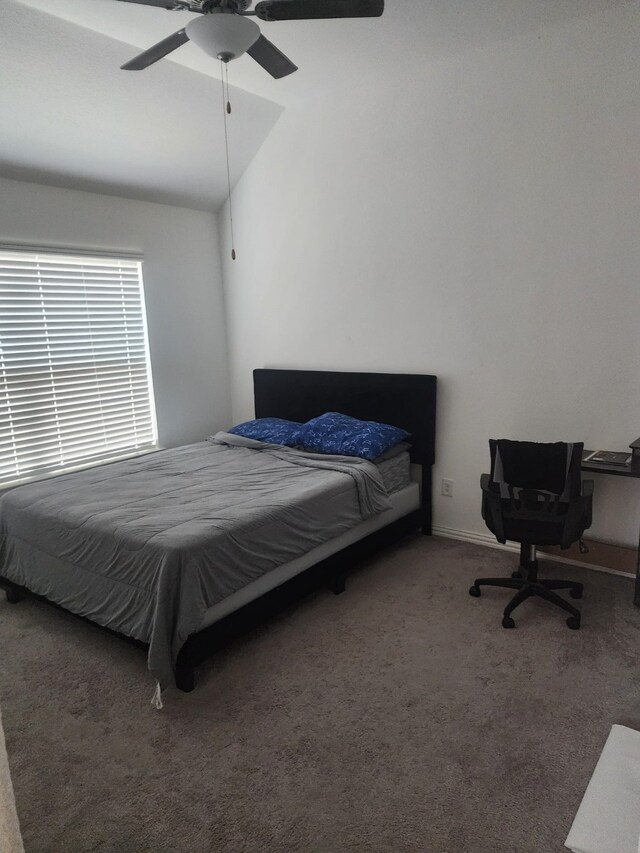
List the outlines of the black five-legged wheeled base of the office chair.
{"label": "black five-legged wheeled base of the office chair", "polygon": [[481,594],[481,586],[499,586],[517,590],[504,609],[502,616],[503,628],[515,628],[515,622],[511,618],[511,614],[527,598],[537,595],[539,598],[543,598],[545,601],[555,604],[556,607],[560,607],[569,613],[570,616],[567,619],[567,625],[569,628],[577,630],[580,627],[580,611],[569,604],[568,601],[565,601],[555,590],[567,589],[571,598],[582,598],[583,585],[576,581],[539,580],[535,546],[523,545],[520,554],[520,568],[517,572],[513,572],[510,578],[476,578],[469,589],[469,595],[478,598]]}

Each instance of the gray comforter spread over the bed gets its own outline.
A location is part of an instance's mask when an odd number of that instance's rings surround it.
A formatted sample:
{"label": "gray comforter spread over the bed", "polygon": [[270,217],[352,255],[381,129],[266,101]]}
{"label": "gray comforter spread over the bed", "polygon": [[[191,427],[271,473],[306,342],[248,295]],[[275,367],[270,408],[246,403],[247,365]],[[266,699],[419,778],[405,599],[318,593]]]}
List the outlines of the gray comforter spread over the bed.
{"label": "gray comforter spread over the bed", "polygon": [[228,433],[0,499],[0,575],[149,644],[164,688],[207,608],[388,506],[376,467]]}

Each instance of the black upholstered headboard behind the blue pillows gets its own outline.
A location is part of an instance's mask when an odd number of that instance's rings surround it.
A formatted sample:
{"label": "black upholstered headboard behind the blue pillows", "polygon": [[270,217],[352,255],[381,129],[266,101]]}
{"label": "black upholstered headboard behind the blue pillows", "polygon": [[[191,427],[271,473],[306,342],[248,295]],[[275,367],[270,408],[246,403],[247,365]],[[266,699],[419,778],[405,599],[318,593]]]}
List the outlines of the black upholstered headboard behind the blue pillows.
{"label": "black upholstered headboard behind the blue pillows", "polygon": [[411,433],[411,459],[435,460],[436,377],[417,373],[254,370],[257,418],[308,421],[324,412],[402,427]]}

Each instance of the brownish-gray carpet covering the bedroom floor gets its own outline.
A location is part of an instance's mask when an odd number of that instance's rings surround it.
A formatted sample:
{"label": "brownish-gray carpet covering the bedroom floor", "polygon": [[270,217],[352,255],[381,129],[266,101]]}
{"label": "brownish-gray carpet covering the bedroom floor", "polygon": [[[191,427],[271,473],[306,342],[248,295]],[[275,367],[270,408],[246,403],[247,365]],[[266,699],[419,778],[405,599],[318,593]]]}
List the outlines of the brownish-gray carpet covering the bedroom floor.
{"label": "brownish-gray carpet covering the bedroom floor", "polygon": [[559,853],[613,723],[640,729],[632,582],[501,627],[493,549],[421,536],[203,667],[154,711],[143,653],[0,603],[0,703],[27,853]]}

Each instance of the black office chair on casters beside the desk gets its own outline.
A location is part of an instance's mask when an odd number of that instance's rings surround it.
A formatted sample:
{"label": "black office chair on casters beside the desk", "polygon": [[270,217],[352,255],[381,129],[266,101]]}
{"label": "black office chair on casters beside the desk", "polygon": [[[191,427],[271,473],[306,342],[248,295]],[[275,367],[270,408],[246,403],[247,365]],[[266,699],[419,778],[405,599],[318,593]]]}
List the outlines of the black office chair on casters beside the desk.
{"label": "black office chair on casters beside the desk", "polygon": [[482,517],[498,542],[520,543],[520,568],[510,578],[478,578],[469,594],[478,597],[481,586],[517,590],[504,609],[504,628],[515,628],[513,610],[538,595],[570,613],[567,625],[577,629],[580,611],[554,590],[582,598],[582,584],[539,580],[536,546],[568,548],[591,526],[593,480],[580,476],[583,445],[492,439],[489,447],[491,474],[480,480]]}

